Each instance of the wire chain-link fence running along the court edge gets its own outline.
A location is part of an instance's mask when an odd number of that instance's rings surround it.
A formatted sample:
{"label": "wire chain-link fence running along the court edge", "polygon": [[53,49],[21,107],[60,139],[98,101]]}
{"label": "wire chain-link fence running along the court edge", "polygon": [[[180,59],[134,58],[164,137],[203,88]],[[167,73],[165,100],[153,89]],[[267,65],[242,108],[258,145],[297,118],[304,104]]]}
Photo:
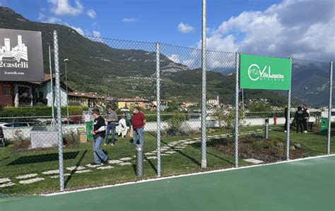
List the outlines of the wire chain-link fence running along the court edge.
{"label": "wire chain-link fence running along the court edge", "polygon": [[67,30],[42,46],[45,81],[0,82],[1,198],[334,153],[327,62],[292,59],[288,112],[288,91],[240,89],[237,53],[206,51],[203,169],[201,50]]}

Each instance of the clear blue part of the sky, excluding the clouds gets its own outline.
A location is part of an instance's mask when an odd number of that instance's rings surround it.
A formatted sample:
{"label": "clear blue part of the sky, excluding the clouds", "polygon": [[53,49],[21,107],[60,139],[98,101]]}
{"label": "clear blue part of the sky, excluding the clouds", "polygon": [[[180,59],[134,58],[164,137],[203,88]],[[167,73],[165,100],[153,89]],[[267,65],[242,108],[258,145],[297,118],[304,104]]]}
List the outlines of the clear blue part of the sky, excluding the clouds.
{"label": "clear blue part of the sky, excluding the clouds", "polygon": [[[74,0],[69,5],[76,6]],[[85,34],[99,31],[102,37],[125,40],[143,40],[169,42],[176,45],[194,45],[201,38],[201,0],[90,0],[79,1],[83,11],[76,15],[57,15],[50,11],[51,1],[42,0],[5,0],[8,6],[26,18],[39,20],[39,13],[47,17],[61,19],[81,28]],[[217,28],[231,16],[238,16],[243,11],[263,11],[280,1],[272,0],[208,0],[207,27]],[[88,10],[95,11],[95,18],[90,18]],[[129,22],[125,22],[128,18]],[[180,33],[177,25],[191,25],[194,30]]]}

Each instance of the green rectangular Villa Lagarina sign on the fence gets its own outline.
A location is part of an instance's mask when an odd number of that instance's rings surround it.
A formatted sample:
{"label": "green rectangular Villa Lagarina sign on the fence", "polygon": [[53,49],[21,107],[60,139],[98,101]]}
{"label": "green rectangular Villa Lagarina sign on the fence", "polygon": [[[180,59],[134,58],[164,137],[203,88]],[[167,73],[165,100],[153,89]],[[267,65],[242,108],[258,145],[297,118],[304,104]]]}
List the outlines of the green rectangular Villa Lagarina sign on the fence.
{"label": "green rectangular Villa Lagarina sign on the fence", "polygon": [[291,61],[240,55],[241,89],[290,90]]}

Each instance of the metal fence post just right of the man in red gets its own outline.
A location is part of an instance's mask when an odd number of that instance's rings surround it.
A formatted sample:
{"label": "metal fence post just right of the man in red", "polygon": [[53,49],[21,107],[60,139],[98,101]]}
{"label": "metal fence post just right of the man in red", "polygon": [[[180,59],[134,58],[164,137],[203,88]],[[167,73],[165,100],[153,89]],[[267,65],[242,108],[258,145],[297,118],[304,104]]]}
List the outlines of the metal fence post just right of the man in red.
{"label": "metal fence post just right of the man in red", "polygon": [[157,112],[157,176],[160,177],[160,58],[159,42],[156,42],[156,112]]}

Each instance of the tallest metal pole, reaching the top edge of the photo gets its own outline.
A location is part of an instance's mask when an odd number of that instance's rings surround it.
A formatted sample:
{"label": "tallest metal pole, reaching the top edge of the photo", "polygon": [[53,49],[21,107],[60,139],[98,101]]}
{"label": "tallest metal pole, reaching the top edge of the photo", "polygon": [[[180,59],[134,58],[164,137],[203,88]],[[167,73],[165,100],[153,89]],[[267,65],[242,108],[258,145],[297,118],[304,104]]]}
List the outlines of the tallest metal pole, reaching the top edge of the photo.
{"label": "tallest metal pole, reaching the top edge of the photo", "polygon": [[206,0],[202,0],[202,101],[201,101],[201,168],[207,167],[206,160]]}

